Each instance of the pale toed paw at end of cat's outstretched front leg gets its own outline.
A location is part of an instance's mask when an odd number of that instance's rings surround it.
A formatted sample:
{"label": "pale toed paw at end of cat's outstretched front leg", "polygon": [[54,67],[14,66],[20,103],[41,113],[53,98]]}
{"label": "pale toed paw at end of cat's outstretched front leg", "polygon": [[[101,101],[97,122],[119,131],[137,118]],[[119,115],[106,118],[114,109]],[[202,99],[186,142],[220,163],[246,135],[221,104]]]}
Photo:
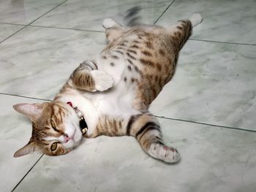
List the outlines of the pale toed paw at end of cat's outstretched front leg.
{"label": "pale toed paw at end of cat's outstretched front leg", "polygon": [[181,156],[178,154],[178,150],[159,143],[151,144],[148,153],[152,157],[158,158],[170,164],[177,163],[181,159]]}

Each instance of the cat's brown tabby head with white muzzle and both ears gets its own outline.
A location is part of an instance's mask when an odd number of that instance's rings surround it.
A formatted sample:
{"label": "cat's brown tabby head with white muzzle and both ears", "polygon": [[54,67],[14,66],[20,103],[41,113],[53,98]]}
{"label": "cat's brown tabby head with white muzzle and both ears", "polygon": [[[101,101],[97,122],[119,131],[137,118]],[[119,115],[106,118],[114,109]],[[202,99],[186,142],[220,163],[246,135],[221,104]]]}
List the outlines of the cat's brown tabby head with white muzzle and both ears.
{"label": "cat's brown tabby head with white muzzle and both ears", "polygon": [[42,104],[16,104],[13,108],[32,121],[29,143],[14,157],[35,150],[46,155],[63,155],[77,147],[82,139],[78,115],[68,104],[53,101]]}

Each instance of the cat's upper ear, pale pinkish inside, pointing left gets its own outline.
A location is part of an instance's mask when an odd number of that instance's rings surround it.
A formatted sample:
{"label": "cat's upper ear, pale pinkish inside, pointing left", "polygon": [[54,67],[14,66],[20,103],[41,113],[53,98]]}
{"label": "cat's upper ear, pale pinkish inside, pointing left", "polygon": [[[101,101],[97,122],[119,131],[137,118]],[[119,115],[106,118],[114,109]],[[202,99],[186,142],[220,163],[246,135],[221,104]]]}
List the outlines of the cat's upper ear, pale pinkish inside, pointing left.
{"label": "cat's upper ear, pale pinkish inside, pointing left", "polygon": [[31,120],[36,120],[42,114],[42,104],[15,104],[13,108]]}

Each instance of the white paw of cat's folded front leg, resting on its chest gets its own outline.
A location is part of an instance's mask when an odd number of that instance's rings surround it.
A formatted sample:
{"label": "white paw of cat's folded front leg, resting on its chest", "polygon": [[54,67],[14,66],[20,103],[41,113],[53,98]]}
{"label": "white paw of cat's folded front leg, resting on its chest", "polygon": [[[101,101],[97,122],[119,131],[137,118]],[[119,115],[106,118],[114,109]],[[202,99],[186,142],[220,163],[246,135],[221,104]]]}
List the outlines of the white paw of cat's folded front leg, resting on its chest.
{"label": "white paw of cat's folded front leg, resting on its chest", "polygon": [[94,70],[91,71],[91,76],[94,79],[95,89],[97,91],[106,91],[114,85],[113,77],[106,72]]}

